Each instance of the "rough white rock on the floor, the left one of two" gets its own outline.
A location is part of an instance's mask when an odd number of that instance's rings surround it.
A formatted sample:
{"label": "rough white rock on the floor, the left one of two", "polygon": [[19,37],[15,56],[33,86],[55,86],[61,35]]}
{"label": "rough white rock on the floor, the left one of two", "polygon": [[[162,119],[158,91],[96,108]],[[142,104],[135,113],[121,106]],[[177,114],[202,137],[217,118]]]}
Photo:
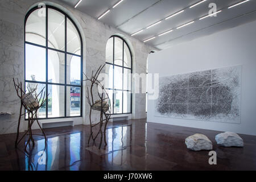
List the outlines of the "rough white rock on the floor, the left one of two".
{"label": "rough white rock on the floor, the left one of two", "polygon": [[203,134],[191,135],[185,139],[187,148],[195,151],[212,150],[212,142]]}

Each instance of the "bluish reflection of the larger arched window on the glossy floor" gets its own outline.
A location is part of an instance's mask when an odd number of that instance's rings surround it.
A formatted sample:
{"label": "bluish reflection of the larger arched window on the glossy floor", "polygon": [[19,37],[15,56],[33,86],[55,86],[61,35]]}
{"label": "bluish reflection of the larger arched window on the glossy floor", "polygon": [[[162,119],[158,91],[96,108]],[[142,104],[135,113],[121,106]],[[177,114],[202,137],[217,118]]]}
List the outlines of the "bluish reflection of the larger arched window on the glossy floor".
{"label": "bluish reflection of the larger arched window on the glossy floor", "polygon": [[[64,143],[60,141],[60,138],[64,139]],[[81,159],[81,133],[48,138],[47,146],[45,146],[44,139],[35,142],[34,148],[27,149],[26,171],[49,171],[64,166],[69,166],[70,170],[79,170],[74,164]],[[38,152],[30,153],[34,150]]]}

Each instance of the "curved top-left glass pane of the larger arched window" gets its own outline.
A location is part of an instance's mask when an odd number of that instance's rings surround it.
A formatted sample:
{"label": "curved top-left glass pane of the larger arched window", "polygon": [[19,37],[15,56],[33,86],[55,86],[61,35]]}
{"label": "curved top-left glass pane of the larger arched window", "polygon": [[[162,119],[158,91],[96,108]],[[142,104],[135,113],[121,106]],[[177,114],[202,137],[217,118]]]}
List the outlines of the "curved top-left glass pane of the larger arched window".
{"label": "curved top-left glass pane of the larger arched window", "polygon": [[46,9],[35,10],[28,16],[26,41],[46,46]]}

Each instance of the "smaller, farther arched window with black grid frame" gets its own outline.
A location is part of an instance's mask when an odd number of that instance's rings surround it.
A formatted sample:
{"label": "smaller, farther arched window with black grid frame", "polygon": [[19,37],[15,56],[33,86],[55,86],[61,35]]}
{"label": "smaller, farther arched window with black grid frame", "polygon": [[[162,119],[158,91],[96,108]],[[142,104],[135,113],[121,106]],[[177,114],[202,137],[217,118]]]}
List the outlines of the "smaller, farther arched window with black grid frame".
{"label": "smaller, farther arched window with black grid frame", "polygon": [[106,44],[107,89],[113,114],[131,113],[132,57],[128,44],[114,35]]}

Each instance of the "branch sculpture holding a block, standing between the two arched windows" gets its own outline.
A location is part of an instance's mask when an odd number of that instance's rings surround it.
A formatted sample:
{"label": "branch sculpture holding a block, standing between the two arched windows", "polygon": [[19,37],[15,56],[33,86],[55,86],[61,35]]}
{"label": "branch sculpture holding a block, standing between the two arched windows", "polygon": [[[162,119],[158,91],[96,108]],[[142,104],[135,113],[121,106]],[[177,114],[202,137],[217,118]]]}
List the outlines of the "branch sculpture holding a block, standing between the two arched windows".
{"label": "branch sculpture holding a block, standing between the two arched windows", "polygon": [[[100,75],[100,72],[102,71],[102,69],[104,68],[104,65],[101,65],[96,73],[93,74],[92,71],[92,75],[90,77],[86,76],[85,74],[85,80],[84,81],[89,81],[90,82],[90,91],[89,88],[87,87],[87,101],[88,104],[90,105],[90,114],[89,114],[89,119],[90,119],[90,137],[88,139],[88,146],[89,146],[89,142],[90,142],[90,138],[93,139],[93,143],[95,143],[96,138],[98,137],[99,134],[101,134],[101,140],[100,140],[100,146],[98,147],[98,149],[101,148],[101,144],[102,144],[102,138],[104,137],[104,143],[105,146],[107,145],[106,142],[106,126],[108,125],[109,119],[110,119],[110,111],[111,111],[111,105],[110,105],[110,99],[109,99],[109,95],[108,92],[106,92],[104,86],[101,84],[100,81],[98,81],[98,76]],[[97,87],[97,93],[98,93],[98,97],[100,99],[98,100],[94,100],[93,97],[93,87],[96,86]],[[101,90],[98,90],[98,89]],[[99,92],[101,91],[101,92]],[[104,94],[106,95],[106,98],[104,98]],[[92,124],[92,110],[97,110],[100,111],[100,121],[97,122],[96,124]],[[105,122],[105,126],[104,126],[104,122]],[[100,129],[98,130],[97,134],[95,137],[93,137],[93,127],[100,125]],[[102,132],[102,126],[104,126],[104,131]]]}

